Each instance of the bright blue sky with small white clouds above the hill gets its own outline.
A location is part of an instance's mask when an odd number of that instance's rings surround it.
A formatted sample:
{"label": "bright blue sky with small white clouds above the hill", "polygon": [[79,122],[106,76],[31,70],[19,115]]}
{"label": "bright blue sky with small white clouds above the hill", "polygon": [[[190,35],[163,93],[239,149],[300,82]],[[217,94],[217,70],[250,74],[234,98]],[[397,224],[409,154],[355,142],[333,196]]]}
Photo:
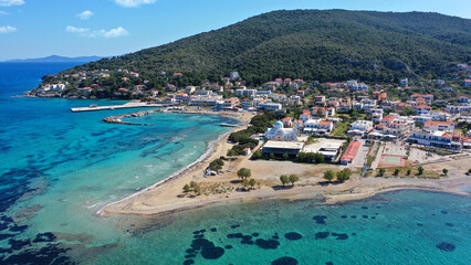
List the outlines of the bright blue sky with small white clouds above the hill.
{"label": "bright blue sky with small white clouds above the hill", "polygon": [[0,0],[0,61],[119,55],[280,9],[430,11],[471,19],[471,0]]}

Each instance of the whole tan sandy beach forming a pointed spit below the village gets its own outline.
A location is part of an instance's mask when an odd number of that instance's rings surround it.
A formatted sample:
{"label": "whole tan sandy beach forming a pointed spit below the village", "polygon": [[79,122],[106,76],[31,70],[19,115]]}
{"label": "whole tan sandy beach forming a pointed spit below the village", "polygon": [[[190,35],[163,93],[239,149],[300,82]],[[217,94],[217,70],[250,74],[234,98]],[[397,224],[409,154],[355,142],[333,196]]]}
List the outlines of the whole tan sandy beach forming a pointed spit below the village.
{"label": "whole tan sandy beach forming a pointed spit below the village", "polygon": [[[190,113],[200,112],[191,110]],[[253,116],[253,114],[249,113],[221,113],[220,115],[241,120],[241,125],[231,131],[247,128]],[[212,160],[226,156],[227,151],[232,147],[228,142],[228,137],[229,134],[226,134],[213,142],[209,153],[189,168],[130,197],[113,202],[98,213],[104,216],[113,214],[156,216],[187,209],[270,199],[324,198],[326,203],[341,203],[400,189],[422,189],[469,195],[468,192],[459,188],[471,186],[471,178],[465,174],[469,165],[471,165],[471,158],[469,157],[425,165],[426,171],[437,172],[437,176],[441,173],[443,168],[448,168],[448,176],[441,176],[437,179],[404,176],[399,176],[401,178],[359,178],[359,168],[357,168],[356,171],[354,169],[350,180],[344,183],[325,183],[322,178],[323,172],[327,169],[339,170],[341,166],[304,165],[291,161],[252,161],[249,160],[250,156],[239,157],[233,162],[226,161],[223,174],[205,178],[203,170],[208,165]],[[258,181],[255,188],[250,191],[240,189],[241,183],[236,172],[242,167],[250,168],[252,178]],[[228,172],[227,169],[231,169],[231,171]],[[280,187],[279,177],[290,173],[300,176],[300,182],[294,187]],[[196,181],[201,186],[202,195],[185,194],[182,192],[182,187],[190,181]]]}

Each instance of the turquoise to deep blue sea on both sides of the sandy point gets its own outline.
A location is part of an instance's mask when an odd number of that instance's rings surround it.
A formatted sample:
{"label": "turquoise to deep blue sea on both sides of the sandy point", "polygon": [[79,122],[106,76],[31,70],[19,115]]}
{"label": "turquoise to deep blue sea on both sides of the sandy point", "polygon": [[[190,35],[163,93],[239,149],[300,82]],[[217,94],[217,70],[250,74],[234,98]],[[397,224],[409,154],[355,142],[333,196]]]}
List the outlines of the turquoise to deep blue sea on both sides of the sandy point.
{"label": "turquoise to deep blue sea on both sides of the sandy point", "polygon": [[96,211],[197,160],[228,131],[220,116],[133,110],[119,102],[12,97],[73,64],[0,63],[0,264],[471,264],[470,197],[397,191],[223,204],[164,218]]}

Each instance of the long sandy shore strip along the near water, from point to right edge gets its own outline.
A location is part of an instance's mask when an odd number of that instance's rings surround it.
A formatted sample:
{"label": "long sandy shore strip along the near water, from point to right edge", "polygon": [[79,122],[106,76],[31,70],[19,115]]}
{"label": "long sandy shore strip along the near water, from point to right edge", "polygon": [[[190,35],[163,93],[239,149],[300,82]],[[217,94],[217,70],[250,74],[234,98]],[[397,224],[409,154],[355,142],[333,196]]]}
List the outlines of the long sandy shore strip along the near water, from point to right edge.
{"label": "long sandy shore strip along the near water, from point to right edge", "polygon": [[[449,181],[450,183],[444,183]],[[463,184],[464,181],[464,184]],[[148,205],[145,203],[153,193],[145,198],[136,199],[137,202],[143,202],[146,208],[140,208],[142,204],[135,205],[136,201],[130,200],[127,204],[118,205],[117,208],[104,209],[105,215],[115,214],[133,214],[142,216],[161,216],[186,210],[200,209],[207,206],[222,205],[227,203],[244,203],[244,202],[257,202],[262,200],[310,200],[322,198],[325,201],[323,204],[335,205],[347,203],[350,201],[358,201],[366,198],[370,198],[380,193],[397,191],[397,190],[426,190],[435,192],[444,192],[451,194],[467,195],[470,197],[470,192],[458,189],[462,186],[468,186],[468,177],[450,177],[440,180],[427,180],[427,179],[376,179],[369,178],[367,181],[349,180],[338,186],[305,186],[294,187],[292,189],[265,189],[254,190],[250,192],[236,192],[230,198],[223,195],[208,195],[198,197],[191,202],[174,201],[169,205]],[[329,192],[337,192],[337,194],[329,194]],[[150,191],[151,192],[151,191]]]}

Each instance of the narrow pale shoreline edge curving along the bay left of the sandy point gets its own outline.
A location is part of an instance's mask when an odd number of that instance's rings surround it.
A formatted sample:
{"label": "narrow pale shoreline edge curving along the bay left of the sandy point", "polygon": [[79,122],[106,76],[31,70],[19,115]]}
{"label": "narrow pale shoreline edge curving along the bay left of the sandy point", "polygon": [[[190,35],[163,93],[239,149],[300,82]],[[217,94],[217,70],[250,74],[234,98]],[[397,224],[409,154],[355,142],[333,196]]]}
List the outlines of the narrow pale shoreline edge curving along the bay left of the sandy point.
{"label": "narrow pale shoreline edge curving along the bay left of the sandy point", "polygon": [[[151,113],[156,113],[156,112],[160,112],[159,109],[156,109],[156,110],[143,110],[143,112],[146,112],[146,115],[148,115],[148,114],[151,114]],[[150,112],[150,113],[149,113]],[[139,112],[138,112],[139,113]],[[134,113],[133,113],[134,114]],[[212,113],[182,113],[182,114],[210,114],[210,115],[220,115],[220,116],[227,116],[226,114],[223,114],[223,113],[221,113],[221,114],[218,114],[218,113],[214,113],[214,114],[212,114]],[[129,114],[130,115],[130,114]],[[231,117],[231,118],[233,118],[233,119],[238,119],[237,117]],[[154,184],[151,184],[151,186],[149,186],[149,187],[147,187],[147,188],[145,188],[145,189],[142,189],[142,190],[139,190],[139,191],[137,191],[137,192],[135,192],[135,193],[133,193],[133,194],[129,194],[129,195],[127,195],[127,197],[125,197],[125,198],[123,198],[123,199],[119,199],[119,200],[117,200],[117,201],[114,201],[114,202],[111,202],[111,203],[107,203],[107,204],[105,204],[104,206],[102,206],[97,212],[96,212],[96,214],[97,215],[100,215],[100,216],[103,216],[104,215],[104,210],[106,209],[106,208],[109,208],[109,206],[112,206],[112,205],[114,205],[114,204],[117,204],[117,203],[121,203],[121,202],[123,202],[123,201],[126,201],[126,200],[129,200],[129,199],[132,199],[132,198],[134,198],[134,197],[136,197],[136,195],[139,195],[139,194],[142,194],[142,193],[144,193],[144,192],[147,192],[147,191],[149,191],[149,190],[151,190],[151,189],[155,189],[155,188],[158,188],[158,187],[161,187],[163,184],[165,184],[165,183],[167,183],[167,182],[169,182],[169,181],[171,181],[171,180],[174,180],[174,179],[176,179],[176,178],[179,178],[179,177],[181,177],[181,176],[184,176],[185,173],[187,173],[188,171],[191,171],[193,168],[196,168],[197,166],[199,166],[200,163],[202,163],[207,158],[209,158],[210,157],[210,155],[211,155],[211,152],[213,152],[214,151],[214,148],[216,148],[216,146],[221,141],[221,139],[222,138],[226,138],[226,137],[228,137],[232,131],[234,131],[236,129],[239,129],[239,128],[241,128],[241,127],[244,127],[244,126],[247,126],[247,123],[244,123],[244,120],[242,120],[242,119],[238,119],[240,123],[241,123],[241,125],[239,125],[239,126],[237,126],[237,127],[233,127],[232,129],[230,129],[229,131],[227,131],[227,132],[224,132],[224,134],[222,134],[222,135],[219,135],[218,136],[218,138],[217,139],[214,139],[214,140],[212,140],[212,141],[209,141],[208,144],[207,144],[207,148],[206,148],[206,150],[205,150],[205,152],[203,153],[201,153],[201,156],[199,156],[198,157],[198,159],[197,160],[195,160],[193,162],[191,162],[190,165],[188,165],[188,166],[186,166],[186,167],[184,167],[184,168],[181,168],[181,169],[179,169],[179,170],[177,170],[176,172],[174,172],[172,174],[170,174],[169,177],[167,177],[166,179],[163,179],[163,180],[160,180],[160,181],[158,181],[158,182],[156,182],[156,183],[154,183]]]}

